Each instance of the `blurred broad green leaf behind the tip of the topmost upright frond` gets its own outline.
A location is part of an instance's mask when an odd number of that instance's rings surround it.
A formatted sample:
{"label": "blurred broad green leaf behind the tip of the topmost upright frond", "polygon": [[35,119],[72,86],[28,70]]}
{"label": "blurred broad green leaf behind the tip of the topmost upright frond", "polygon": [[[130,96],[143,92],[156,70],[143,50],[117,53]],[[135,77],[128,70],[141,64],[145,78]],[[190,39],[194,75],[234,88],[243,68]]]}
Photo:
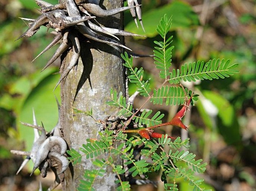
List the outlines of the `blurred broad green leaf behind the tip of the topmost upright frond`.
{"label": "blurred broad green leaf behind the tip of the topmost upright frond", "polygon": [[167,14],[167,17],[172,16],[171,30],[173,31],[177,28],[188,28],[190,26],[199,25],[198,16],[193,12],[191,6],[181,1],[174,1],[166,6],[142,14],[145,32],[141,27],[137,28],[133,20],[128,23],[125,30],[148,37],[154,37],[157,35],[155,28],[161,17],[165,14]]}

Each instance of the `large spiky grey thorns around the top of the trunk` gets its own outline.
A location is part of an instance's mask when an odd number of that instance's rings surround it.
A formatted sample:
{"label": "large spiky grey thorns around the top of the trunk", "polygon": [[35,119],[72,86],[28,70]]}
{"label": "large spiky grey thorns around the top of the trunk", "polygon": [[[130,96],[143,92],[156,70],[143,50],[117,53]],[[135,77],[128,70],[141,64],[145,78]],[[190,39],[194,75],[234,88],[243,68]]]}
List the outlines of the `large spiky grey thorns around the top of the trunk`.
{"label": "large spiky grey thorns around the top of the trunk", "polygon": [[[30,27],[27,29],[27,31],[19,36],[19,38],[24,36],[33,36],[39,30],[40,26],[46,26],[48,29],[55,29],[55,31],[57,32],[55,38],[52,42],[50,42],[49,45],[47,45],[46,48],[44,48],[42,52],[40,52],[40,54],[38,54],[36,58],[38,58],[41,54],[53,47],[53,45],[61,41],[60,46],[55,51],[52,58],[46,63],[43,70],[50,66],[50,64],[52,64],[69,48],[72,48],[73,50],[71,61],[65,68],[65,70],[61,70],[61,77],[55,88],[59,85],[59,83],[62,82],[62,80],[65,79],[71,69],[73,69],[73,67],[78,63],[78,59],[81,56],[79,35],[83,35],[89,40],[115,45],[118,47],[126,48],[128,50],[130,50],[130,48],[120,44],[120,42],[115,40],[119,40],[119,38],[115,35],[141,36],[120,29],[101,26],[95,19],[96,17],[108,17],[123,12],[124,10],[130,9],[130,12],[132,13],[132,16],[135,18],[135,20],[137,13],[138,18],[141,22],[141,26],[143,28],[141,20],[141,8],[139,7],[137,0],[128,0],[128,7],[120,7],[111,10],[102,9],[98,4],[93,4],[93,0],[65,0],[64,4],[57,5],[52,5],[42,0],[35,1],[38,6],[40,6],[42,14],[37,19],[21,18],[31,23],[29,23]],[[137,22],[136,25],[138,26]],[[114,37],[115,39],[112,39],[110,37]]]}

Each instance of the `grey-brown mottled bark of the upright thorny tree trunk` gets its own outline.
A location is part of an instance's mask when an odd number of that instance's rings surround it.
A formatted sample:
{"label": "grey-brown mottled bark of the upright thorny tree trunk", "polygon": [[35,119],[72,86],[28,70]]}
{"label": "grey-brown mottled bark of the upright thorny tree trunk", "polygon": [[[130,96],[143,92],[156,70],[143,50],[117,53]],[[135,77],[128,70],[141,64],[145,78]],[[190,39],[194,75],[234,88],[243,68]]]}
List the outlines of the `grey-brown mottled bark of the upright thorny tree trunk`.
{"label": "grey-brown mottled bark of the upright thorny tree trunk", "polygon": [[[104,0],[101,6],[106,9],[121,7],[123,0]],[[117,14],[101,19],[100,22],[107,27],[122,29],[123,15]],[[79,60],[77,71],[72,69],[61,84],[61,132],[69,148],[75,150],[79,150],[86,139],[96,138],[99,125],[85,114],[74,113],[72,107],[83,111],[92,108],[95,119],[104,119],[114,114],[116,109],[105,104],[110,97],[111,87],[125,93],[124,68],[120,57],[122,48],[94,41],[84,41],[81,44],[81,54],[86,60],[83,63]],[[71,54],[72,50],[62,58],[63,66],[70,61]],[[84,169],[92,168],[92,161],[83,157],[82,162],[74,166],[73,177],[70,171],[65,172],[63,190],[76,190],[83,178]],[[95,190],[115,190],[114,179],[115,175],[108,169],[104,177],[95,182]]]}

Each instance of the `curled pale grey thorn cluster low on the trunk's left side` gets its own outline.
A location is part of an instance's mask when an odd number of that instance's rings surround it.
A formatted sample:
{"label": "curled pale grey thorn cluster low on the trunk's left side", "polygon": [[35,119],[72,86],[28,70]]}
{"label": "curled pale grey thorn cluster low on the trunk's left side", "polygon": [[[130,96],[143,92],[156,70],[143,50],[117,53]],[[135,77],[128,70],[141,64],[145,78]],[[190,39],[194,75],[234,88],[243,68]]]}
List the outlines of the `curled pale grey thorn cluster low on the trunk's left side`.
{"label": "curled pale grey thorn cluster low on the trunk's left side", "polygon": [[[59,103],[58,108],[60,109]],[[63,176],[62,173],[67,170],[69,165],[66,155],[67,143],[58,135],[59,122],[50,133],[46,133],[43,124],[42,126],[37,125],[33,110],[33,125],[27,123],[22,124],[34,128],[34,143],[30,152],[11,150],[11,153],[15,155],[27,156],[16,174],[18,174],[31,159],[34,162],[34,167],[30,175],[32,175],[37,168],[40,169],[42,177],[47,175],[49,168],[53,170],[55,173],[55,182],[49,187],[48,191],[53,190],[60,184],[60,176]],[[39,130],[41,131],[41,135],[39,135]]]}

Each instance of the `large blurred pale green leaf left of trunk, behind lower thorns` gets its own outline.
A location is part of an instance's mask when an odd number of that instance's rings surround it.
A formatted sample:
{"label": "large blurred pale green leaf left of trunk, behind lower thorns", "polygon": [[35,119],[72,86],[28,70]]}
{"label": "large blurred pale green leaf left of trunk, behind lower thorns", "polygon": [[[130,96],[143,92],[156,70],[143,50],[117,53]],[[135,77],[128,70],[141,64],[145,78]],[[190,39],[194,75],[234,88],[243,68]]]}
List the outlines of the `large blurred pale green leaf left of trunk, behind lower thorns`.
{"label": "large blurred pale green leaf left of trunk, behind lower thorns", "polygon": [[53,92],[53,88],[59,80],[59,75],[51,74],[45,77],[28,95],[17,117],[16,125],[21,140],[25,141],[26,150],[30,150],[33,144],[33,129],[21,125],[20,121],[33,124],[32,109],[34,108],[38,125],[41,121],[46,131],[52,130],[58,121],[58,106],[55,95],[60,94],[59,87]]}

